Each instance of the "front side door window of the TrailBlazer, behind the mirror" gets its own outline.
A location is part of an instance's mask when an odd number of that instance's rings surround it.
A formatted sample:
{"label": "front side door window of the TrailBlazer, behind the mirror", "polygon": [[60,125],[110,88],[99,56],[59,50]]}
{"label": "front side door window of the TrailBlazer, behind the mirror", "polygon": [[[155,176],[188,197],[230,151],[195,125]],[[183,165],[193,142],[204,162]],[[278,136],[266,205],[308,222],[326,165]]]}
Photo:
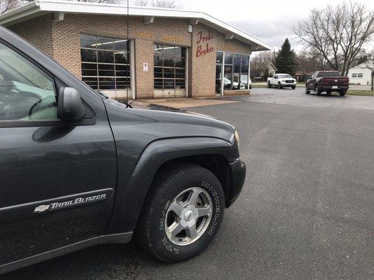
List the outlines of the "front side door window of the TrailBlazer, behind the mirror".
{"label": "front side door window of the TrailBlazer, behind the mirror", "polygon": [[0,123],[57,119],[53,78],[0,43]]}

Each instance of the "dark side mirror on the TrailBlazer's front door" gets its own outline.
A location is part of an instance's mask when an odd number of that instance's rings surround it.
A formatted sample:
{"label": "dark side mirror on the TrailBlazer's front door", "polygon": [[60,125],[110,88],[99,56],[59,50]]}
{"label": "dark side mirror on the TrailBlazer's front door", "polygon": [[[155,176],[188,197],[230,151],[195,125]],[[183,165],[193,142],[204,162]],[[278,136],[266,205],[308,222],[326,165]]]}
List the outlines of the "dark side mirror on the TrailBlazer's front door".
{"label": "dark side mirror on the TrailBlazer's front door", "polygon": [[57,116],[65,123],[74,123],[86,115],[79,92],[72,87],[62,87],[58,92]]}

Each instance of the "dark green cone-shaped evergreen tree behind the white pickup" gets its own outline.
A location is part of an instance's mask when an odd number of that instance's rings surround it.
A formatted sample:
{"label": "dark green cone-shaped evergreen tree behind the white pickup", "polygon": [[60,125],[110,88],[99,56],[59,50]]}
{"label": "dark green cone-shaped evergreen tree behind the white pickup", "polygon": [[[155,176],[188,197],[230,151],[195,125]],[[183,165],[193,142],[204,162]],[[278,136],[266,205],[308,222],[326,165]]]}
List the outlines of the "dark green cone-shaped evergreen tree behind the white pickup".
{"label": "dark green cone-shaped evergreen tree behind the white pickup", "polygon": [[296,69],[296,55],[293,50],[291,50],[290,41],[288,38],[284,41],[281,50],[277,53],[275,57],[277,73],[288,73],[291,76],[295,75]]}

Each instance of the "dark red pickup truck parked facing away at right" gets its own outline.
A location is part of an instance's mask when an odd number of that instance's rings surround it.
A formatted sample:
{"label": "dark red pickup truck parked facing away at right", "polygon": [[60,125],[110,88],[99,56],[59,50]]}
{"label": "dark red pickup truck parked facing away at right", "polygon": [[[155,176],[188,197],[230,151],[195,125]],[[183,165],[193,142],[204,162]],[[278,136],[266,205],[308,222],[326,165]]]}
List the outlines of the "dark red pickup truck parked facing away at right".
{"label": "dark red pickup truck parked facing away at right", "polygon": [[312,78],[307,80],[305,85],[305,93],[311,91],[321,95],[322,92],[331,94],[331,92],[339,92],[340,96],[345,96],[349,88],[349,78],[340,76],[339,71],[316,71]]}

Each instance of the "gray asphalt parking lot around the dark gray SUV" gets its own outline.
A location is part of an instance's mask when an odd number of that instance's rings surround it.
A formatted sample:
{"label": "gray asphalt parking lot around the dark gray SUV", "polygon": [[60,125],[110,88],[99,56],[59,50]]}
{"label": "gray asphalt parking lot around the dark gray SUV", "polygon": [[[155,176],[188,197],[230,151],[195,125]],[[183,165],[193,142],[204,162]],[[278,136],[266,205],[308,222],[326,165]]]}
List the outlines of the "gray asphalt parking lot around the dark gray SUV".
{"label": "gray asphalt parking lot around the dark gray SUV", "polygon": [[166,265],[95,246],[0,279],[373,279],[374,98],[254,89],[191,111],[226,120],[248,171],[213,244]]}

